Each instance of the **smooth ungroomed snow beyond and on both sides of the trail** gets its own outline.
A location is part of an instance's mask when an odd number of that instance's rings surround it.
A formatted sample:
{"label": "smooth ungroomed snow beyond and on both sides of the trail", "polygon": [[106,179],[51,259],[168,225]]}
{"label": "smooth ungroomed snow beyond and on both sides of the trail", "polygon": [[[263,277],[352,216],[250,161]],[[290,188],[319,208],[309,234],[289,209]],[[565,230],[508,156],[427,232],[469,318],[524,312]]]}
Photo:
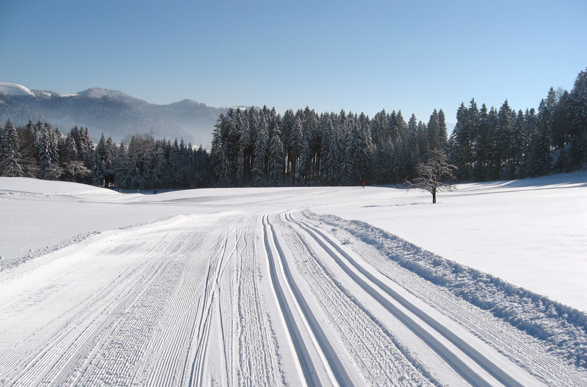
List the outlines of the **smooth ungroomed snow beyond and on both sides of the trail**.
{"label": "smooth ungroomed snow beyond and on both sides of the trail", "polygon": [[318,214],[365,221],[444,258],[587,311],[587,172],[458,184],[457,191],[440,193],[434,205],[427,193],[387,187],[198,189],[143,195],[4,178],[0,192],[6,190],[92,196],[0,194],[0,217],[8,226],[0,229],[0,255],[5,257],[80,233],[161,217],[310,207]]}

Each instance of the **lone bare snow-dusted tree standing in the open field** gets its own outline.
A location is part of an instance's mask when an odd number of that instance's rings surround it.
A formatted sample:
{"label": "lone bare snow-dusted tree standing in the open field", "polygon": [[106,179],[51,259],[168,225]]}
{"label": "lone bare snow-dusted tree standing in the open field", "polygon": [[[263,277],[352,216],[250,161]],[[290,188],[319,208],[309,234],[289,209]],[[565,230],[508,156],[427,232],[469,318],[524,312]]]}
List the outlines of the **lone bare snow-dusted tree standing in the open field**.
{"label": "lone bare snow-dusted tree standing in the open field", "polygon": [[434,204],[438,191],[455,189],[451,184],[444,182],[446,179],[454,179],[454,169],[456,166],[448,164],[446,153],[442,150],[430,149],[426,163],[418,164],[416,167],[416,179],[407,183],[409,183],[410,189],[429,191],[432,194],[432,203]]}

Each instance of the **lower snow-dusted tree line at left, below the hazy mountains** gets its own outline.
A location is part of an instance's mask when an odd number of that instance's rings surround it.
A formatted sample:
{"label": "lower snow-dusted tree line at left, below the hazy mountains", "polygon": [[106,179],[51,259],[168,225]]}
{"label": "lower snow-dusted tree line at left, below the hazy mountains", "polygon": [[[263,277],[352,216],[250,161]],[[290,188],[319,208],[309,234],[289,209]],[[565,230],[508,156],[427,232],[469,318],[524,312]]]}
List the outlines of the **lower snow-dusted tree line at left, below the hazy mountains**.
{"label": "lower snow-dusted tree line at left, below the hazy mountains", "polygon": [[183,140],[149,134],[112,137],[93,144],[87,127],[63,135],[49,122],[0,124],[0,176],[36,177],[119,189],[197,188],[212,181],[208,152]]}

